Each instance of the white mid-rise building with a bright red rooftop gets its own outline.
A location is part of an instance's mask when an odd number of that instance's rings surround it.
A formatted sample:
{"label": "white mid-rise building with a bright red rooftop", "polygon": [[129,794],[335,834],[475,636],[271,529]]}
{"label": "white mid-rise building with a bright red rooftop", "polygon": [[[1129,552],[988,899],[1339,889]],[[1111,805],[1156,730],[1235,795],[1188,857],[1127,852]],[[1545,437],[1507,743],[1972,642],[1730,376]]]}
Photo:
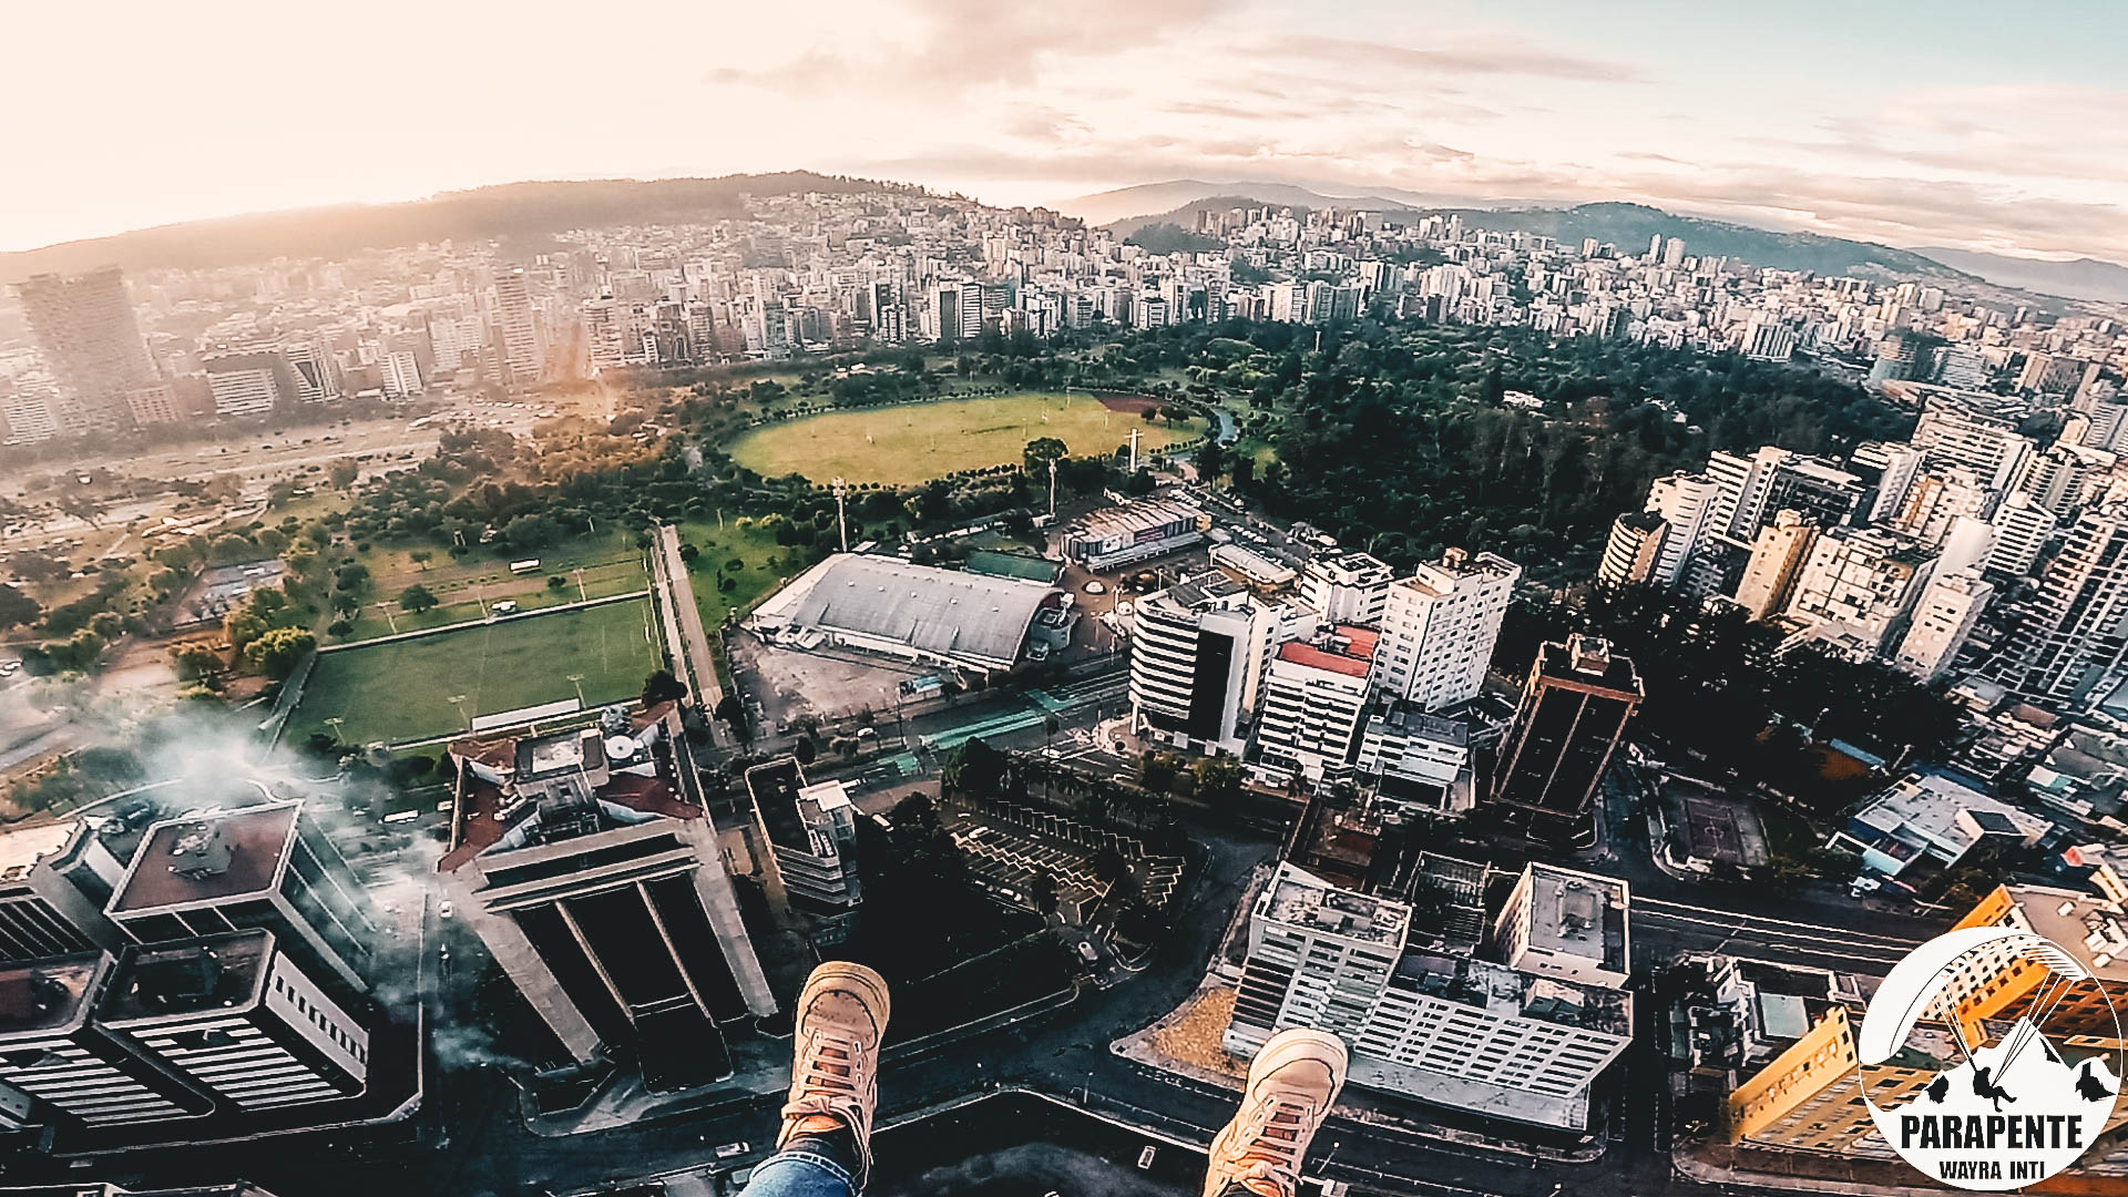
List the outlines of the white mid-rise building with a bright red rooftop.
{"label": "white mid-rise building with a bright red rooftop", "polygon": [[1285,641],[1264,669],[1264,709],[1256,720],[1262,769],[1321,782],[1351,771],[1375,660],[1373,628],[1336,624],[1311,641]]}

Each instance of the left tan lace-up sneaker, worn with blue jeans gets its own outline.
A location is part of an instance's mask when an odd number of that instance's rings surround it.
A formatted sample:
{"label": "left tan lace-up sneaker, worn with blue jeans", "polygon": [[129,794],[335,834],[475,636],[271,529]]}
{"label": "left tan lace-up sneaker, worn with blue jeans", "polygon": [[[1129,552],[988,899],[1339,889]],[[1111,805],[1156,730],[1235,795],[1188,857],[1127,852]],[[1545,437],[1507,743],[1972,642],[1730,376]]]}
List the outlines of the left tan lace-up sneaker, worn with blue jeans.
{"label": "left tan lace-up sneaker, worn with blue jeans", "polygon": [[872,1171],[872,1108],[879,1105],[879,1039],[887,1031],[887,982],[864,965],[813,969],[792,1027],[792,1093],[777,1150],[794,1135],[855,1139],[858,1188]]}

